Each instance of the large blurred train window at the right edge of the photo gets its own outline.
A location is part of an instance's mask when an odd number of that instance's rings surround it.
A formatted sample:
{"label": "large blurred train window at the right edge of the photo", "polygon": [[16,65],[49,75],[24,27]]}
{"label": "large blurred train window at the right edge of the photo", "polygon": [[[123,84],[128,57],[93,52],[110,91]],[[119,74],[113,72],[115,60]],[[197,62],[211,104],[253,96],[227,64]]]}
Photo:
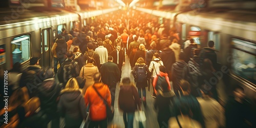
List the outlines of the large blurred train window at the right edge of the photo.
{"label": "large blurred train window at the right edge of the photo", "polygon": [[256,44],[232,38],[232,72],[252,83],[256,83]]}

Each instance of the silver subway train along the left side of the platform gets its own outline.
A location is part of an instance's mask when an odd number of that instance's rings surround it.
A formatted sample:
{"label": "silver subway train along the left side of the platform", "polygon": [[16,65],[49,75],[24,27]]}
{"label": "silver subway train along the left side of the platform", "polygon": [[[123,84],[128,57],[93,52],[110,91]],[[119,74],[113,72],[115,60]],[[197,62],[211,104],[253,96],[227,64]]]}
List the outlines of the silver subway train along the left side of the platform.
{"label": "silver subway train along the left side of the platform", "polygon": [[86,26],[95,16],[104,15],[118,8],[95,11],[69,11],[61,8],[31,7],[23,10],[2,9],[0,14],[0,67],[10,70],[14,63],[29,65],[31,57],[40,58],[46,71],[53,67],[51,48],[53,40],[65,28]]}

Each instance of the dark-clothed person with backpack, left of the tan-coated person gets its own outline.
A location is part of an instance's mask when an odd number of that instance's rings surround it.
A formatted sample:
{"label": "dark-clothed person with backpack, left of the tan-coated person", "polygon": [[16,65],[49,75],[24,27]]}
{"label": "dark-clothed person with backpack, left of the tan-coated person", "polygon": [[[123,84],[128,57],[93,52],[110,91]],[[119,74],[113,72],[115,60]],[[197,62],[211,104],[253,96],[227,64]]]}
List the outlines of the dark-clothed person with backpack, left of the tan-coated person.
{"label": "dark-clothed person with backpack, left of the tan-coated person", "polygon": [[66,85],[68,80],[72,77],[77,77],[79,75],[78,62],[73,61],[73,52],[68,51],[66,56],[68,57],[60,66],[60,70],[58,70],[58,80],[63,85]]}

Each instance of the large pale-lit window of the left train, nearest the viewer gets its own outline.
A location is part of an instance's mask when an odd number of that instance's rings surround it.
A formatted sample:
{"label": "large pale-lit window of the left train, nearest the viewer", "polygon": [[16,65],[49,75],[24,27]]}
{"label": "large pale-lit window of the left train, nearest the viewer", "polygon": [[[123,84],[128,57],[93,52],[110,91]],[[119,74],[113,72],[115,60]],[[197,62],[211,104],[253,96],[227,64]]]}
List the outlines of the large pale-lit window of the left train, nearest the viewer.
{"label": "large pale-lit window of the left train, nearest the viewer", "polygon": [[11,41],[12,63],[24,62],[30,58],[30,36],[22,35]]}

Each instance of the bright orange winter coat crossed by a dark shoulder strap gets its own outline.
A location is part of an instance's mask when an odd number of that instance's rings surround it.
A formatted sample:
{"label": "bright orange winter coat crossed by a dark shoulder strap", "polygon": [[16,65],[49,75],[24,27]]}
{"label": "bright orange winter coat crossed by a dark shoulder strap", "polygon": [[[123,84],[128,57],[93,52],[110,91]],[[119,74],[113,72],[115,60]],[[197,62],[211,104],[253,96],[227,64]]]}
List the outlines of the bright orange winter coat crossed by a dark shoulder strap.
{"label": "bright orange winter coat crossed by a dark shoulder strap", "polygon": [[[99,94],[105,98],[107,104],[111,106],[111,94],[109,87],[104,83],[94,83],[93,85]],[[89,115],[92,121],[99,121],[106,119],[106,106],[93,86],[88,87],[84,100],[86,105],[90,105]]]}

